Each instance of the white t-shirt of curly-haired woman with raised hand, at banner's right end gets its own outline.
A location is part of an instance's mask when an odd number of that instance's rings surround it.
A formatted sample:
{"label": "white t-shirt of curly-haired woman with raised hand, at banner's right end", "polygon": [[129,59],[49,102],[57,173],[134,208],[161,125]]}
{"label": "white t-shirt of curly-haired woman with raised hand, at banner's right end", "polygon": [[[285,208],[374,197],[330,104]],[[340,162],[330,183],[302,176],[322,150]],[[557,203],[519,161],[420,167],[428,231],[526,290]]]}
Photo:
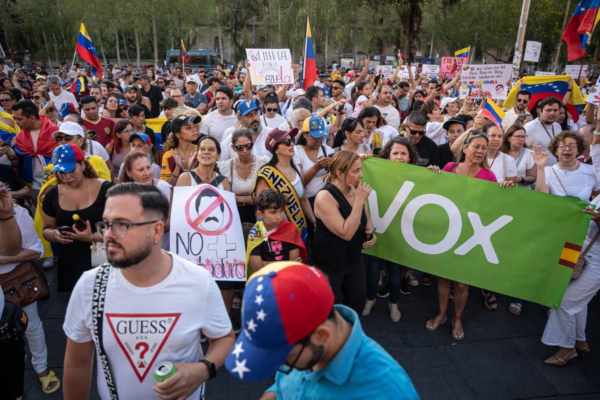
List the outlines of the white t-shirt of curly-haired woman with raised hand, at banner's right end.
{"label": "white t-shirt of curly-haired woman with raised hand, at banner's right end", "polygon": [[[554,175],[554,172],[556,175]],[[575,196],[583,201],[589,201],[593,190],[600,190],[598,178],[594,167],[589,164],[579,163],[579,168],[572,172],[566,172],[558,166],[544,168],[546,185],[550,188],[550,194],[557,196]],[[558,178],[556,178],[558,176]],[[559,182],[560,179],[560,182]],[[563,184],[565,189],[560,184]],[[566,193],[565,193],[566,190]]]}

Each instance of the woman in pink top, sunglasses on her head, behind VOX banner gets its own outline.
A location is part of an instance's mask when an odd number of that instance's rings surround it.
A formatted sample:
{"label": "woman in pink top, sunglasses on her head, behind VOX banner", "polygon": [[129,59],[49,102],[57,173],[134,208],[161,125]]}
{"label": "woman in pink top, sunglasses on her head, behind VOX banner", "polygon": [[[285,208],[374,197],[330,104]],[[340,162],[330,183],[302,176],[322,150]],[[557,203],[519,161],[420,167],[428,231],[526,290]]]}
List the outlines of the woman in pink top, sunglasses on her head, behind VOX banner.
{"label": "woman in pink top, sunglasses on her head, behind VOX banner", "polygon": [[[477,125],[477,124],[476,124]],[[472,178],[485,179],[497,182],[496,175],[488,169],[487,146],[488,134],[470,129],[463,133],[454,143],[460,140],[461,146],[457,151],[458,162],[446,164],[443,171],[456,173],[458,175],[471,176]],[[502,182],[502,187],[510,186],[512,182]],[[427,321],[425,327],[428,330],[436,330],[440,324],[446,322],[446,311],[448,311],[448,300],[450,299],[450,283],[446,278],[438,277],[437,296],[439,301],[438,314]],[[467,303],[469,285],[454,282],[454,317],[452,318],[452,338],[460,340],[464,338],[463,323],[461,321],[464,306]]]}

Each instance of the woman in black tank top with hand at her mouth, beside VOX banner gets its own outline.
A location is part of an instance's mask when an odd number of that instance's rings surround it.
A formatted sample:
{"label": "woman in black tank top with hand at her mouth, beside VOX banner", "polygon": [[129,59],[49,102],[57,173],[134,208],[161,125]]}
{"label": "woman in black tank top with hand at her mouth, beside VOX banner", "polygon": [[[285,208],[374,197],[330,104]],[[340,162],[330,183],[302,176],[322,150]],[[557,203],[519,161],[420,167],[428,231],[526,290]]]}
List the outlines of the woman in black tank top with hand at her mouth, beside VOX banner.
{"label": "woman in black tank top with hand at her mouth, beside VOX banner", "polygon": [[365,203],[371,188],[360,182],[362,163],[357,154],[342,150],[329,164],[326,182],[314,201],[316,228],[313,262],[329,277],[335,302],[361,312],[367,296],[361,251],[376,242]]}

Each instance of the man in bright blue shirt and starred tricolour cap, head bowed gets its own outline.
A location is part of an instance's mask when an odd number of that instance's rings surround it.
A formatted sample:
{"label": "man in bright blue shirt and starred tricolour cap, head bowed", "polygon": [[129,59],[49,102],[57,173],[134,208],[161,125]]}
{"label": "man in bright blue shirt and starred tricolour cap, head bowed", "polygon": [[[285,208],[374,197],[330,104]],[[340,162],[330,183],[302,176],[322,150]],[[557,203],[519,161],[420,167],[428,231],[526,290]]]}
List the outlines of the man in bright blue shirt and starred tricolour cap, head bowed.
{"label": "man in bright blue shirt and starred tricolour cap, head bowed", "polygon": [[404,369],[365,335],[358,314],[334,305],[319,269],[268,264],[248,280],[242,304],[244,334],[225,365],[247,381],[277,371],[263,400],[419,398]]}

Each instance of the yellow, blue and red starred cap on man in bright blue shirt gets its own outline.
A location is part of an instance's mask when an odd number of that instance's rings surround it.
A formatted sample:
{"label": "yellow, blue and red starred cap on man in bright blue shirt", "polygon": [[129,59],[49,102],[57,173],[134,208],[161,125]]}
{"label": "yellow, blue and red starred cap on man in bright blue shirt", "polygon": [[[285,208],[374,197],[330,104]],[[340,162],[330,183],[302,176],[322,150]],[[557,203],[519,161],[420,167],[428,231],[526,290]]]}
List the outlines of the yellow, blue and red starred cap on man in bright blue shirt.
{"label": "yellow, blue and red starred cap on man in bright blue shirt", "polygon": [[225,360],[227,370],[245,381],[270,377],[333,306],[331,286],[319,269],[297,261],[262,267],[246,284],[242,333]]}

